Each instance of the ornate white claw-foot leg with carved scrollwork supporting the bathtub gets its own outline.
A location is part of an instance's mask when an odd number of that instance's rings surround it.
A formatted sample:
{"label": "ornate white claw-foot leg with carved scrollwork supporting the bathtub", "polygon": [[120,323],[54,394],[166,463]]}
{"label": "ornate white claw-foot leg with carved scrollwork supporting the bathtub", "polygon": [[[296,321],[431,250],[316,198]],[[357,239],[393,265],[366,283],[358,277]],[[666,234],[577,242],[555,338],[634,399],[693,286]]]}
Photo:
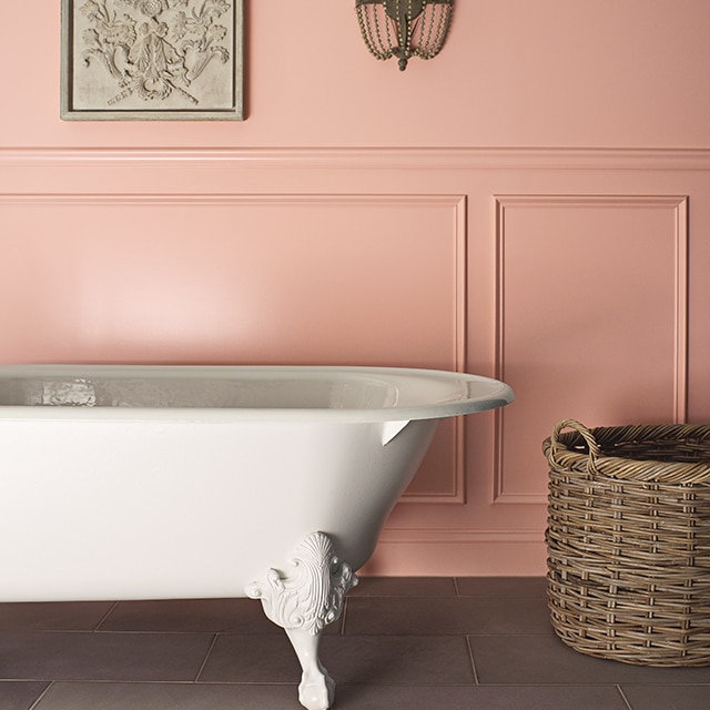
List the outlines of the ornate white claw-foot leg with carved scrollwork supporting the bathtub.
{"label": "ornate white claw-foot leg with carved scrollwork supporting the bathtub", "polygon": [[262,600],[274,623],[286,629],[303,669],[298,700],[308,710],[333,704],[335,683],[318,660],[321,632],[339,618],[345,595],[356,584],[331,538],[313,532],[296,548],[286,570],[270,569],[245,589],[248,597]]}

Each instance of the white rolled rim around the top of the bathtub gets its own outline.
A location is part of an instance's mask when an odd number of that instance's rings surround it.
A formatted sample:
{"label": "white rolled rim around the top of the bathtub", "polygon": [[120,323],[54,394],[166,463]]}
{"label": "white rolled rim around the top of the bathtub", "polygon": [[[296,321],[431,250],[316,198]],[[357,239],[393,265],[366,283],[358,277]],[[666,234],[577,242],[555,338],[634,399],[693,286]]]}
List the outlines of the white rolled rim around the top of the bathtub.
{"label": "white rolled rim around the top of the bathtub", "polygon": [[[121,407],[121,406],[52,406],[52,405],[0,405],[0,420],[152,420],[152,422],[328,422],[376,423],[439,419],[475,414],[505,406],[514,400],[509,385],[483,375],[473,375],[445,369],[414,367],[378,367],[347,365],[132,365],[132,364],[17,364],[0,365],[0,381],[40,377],[93,377],[114,378],[261,378],[267,381],[276,375],[303,379],[343,382],[381,378],[386,382],[406,384],[407,381],[425,378],[428,383],[462,387],[462,397],[438,399],[407,406],[386,407]],[[465,396],[468,386],[474,394]],[[476,394],[476,385],[484,390]]]}

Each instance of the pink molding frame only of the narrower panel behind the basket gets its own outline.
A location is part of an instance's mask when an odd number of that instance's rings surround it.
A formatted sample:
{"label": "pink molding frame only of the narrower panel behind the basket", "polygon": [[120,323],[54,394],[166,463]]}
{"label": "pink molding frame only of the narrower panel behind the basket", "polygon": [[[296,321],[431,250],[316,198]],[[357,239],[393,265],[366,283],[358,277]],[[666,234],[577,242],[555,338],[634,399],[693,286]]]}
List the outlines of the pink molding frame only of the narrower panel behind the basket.
{"label": "pink molding frame only of the narrower panel behind the basket", "polygon": [[[674,315],[673,315],[673,402],[672,419],[684,423],[688,417],[688,224],[687,195],[596,195],[596,194],[524,194],[495,196],[495,231],[497,254],[496,285],[496,376],[506,378],[506,310],[508,291],[505,271],[506,211],[515,207],[600,207],[600,209],[643,209],[670,210],[673,214],[673,256],[671,268],[674,272]],[[550,317],[552,314],[550,314]],[[493,474],[494,504],[545,505],[546,494],[535,494],[506,489],[504,429],[506,412],[496,412],[495,452],[496,464]]]}

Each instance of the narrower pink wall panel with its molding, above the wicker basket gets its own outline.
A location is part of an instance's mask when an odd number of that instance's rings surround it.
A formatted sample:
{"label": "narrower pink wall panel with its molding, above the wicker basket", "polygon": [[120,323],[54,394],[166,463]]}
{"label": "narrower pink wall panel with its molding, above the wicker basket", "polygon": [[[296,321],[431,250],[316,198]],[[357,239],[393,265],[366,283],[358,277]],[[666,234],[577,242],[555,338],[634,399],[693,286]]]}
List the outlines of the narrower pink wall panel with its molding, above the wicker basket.
{"label": "narrower pink wall panel with its molding, above the wicker basket", "polygon": [[498,195],[496,504],[544,504],[544,438],[586,425],[684,422],[688,197]]}

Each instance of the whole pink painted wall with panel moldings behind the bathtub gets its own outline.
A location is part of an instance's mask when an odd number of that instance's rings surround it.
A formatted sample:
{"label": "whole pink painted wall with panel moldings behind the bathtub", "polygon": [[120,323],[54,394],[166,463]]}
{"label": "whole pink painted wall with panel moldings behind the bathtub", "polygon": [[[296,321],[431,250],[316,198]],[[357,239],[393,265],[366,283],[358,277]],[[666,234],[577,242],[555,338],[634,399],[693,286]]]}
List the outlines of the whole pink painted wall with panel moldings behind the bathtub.
{"label": "whole pink painted wall with panel moldings behind the bathtub", "polygon": [[1,362],[504,377],[368,567],[541,574],[552,424],[710,419],[710,3],[458,0],[405,73],[352,2],[246,2],[244,122],[62,122],[3,10]]}

